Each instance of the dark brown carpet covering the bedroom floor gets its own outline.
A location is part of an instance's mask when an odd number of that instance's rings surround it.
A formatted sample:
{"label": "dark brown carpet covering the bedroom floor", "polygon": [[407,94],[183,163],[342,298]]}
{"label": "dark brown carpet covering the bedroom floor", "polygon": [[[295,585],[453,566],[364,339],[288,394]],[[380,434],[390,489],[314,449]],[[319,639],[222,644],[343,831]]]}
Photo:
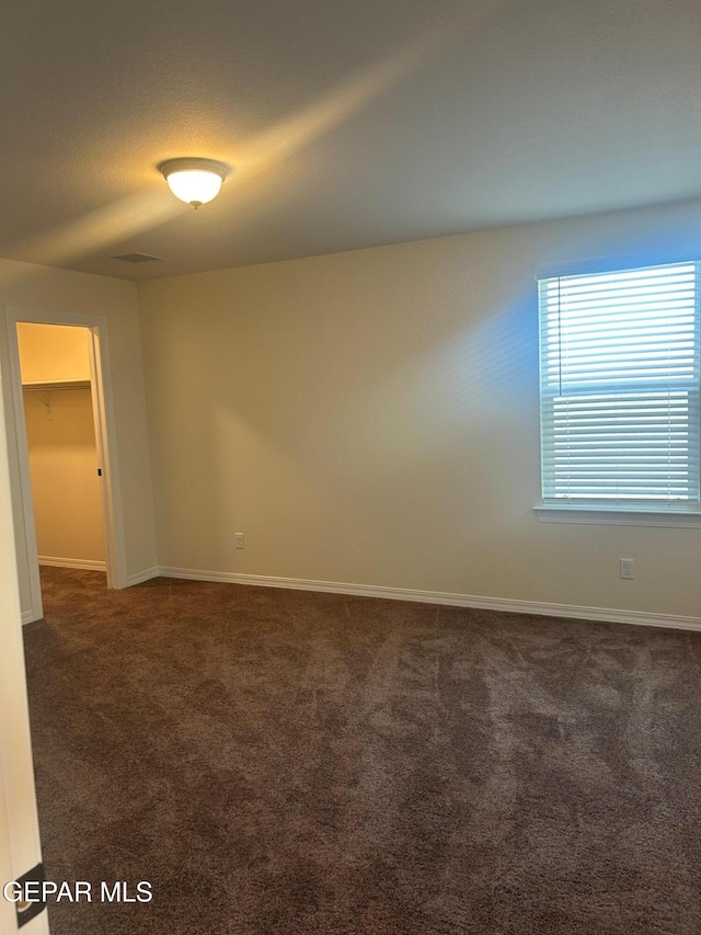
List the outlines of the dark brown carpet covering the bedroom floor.
{"label": "dark brown carpet covering the bedroom floor", "polygon": [[701,933],[701,635],[43,578],[54,935]]}

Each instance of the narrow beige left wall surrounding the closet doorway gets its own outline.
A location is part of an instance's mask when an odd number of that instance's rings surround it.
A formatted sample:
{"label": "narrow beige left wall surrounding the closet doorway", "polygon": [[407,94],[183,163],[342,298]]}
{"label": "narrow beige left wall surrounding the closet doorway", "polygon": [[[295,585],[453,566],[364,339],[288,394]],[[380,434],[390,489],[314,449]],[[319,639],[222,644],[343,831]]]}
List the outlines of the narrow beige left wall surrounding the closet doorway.
{"label": "narrow beige left wall surrounding the closet doorway", "polygon": [[[117,458],[126,537],[127,572],[136,575],[156,563],[148,432],[143,401],[136,288],[133,283],[0,260],[0,305],[43,311],[102,315],[107,321],[108,357],[114,390]],[[8,422],[10,471],[18,484],[16,438],[8,387],[5,328],[0,329],[0,374]],[[18,536],[22,607],[30,602],[24,545]]]}

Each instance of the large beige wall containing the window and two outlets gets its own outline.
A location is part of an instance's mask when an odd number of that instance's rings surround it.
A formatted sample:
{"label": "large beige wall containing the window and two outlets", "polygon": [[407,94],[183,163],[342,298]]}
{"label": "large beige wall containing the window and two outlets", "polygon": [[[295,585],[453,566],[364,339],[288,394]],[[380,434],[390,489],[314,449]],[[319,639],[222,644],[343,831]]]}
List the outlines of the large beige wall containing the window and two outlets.
{"label": "large beige wall containing the window and two outlets", "polygon": [[160,563],[699,616],[701,529],[532,506],[536,270],[698,256],[700,208],[140,284]]}

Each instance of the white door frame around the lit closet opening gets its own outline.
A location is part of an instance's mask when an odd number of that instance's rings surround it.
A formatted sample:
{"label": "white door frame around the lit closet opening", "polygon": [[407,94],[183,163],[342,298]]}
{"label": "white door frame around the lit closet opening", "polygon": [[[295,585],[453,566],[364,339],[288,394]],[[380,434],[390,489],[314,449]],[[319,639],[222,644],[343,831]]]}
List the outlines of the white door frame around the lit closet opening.
{"label": "white door frame around the lit closet opening", "polygon": [[20,367],[20,345],[16,329],[19,322],[72,326],[87,328],[90,332],[90,386],[97,457],[102,467],[101,490],[105,525],[107,588],[126,588],[127,561],[112,395],[112,375],[110,370],[107,320],[101,315],[5,307],[9,362],[7,390],[9,390],[12,403],[19,486],[19,490],[13,490],[12,499],[15,508],[15,522],[21,523],[24,527],[24,559],[28,575],[32,606],[28,611],[25,611],[22,618],[24,623],[27,623],[28,620],[41,619],[44,612],[34,521],[34,502],[32,498],[32,479],[30,475],[30,454],[22,395],[22,372]]}

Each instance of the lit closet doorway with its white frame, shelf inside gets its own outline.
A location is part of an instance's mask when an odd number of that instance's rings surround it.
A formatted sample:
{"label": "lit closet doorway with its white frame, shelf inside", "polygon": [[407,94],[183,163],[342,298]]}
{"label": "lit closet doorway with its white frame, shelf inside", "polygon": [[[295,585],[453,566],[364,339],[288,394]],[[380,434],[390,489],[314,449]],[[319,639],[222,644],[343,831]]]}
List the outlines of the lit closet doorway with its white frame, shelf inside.
{"label": "lit closet doorway with its white frame, shelf inside", "polygon": [[[74,567],[104,568],[107,586],[124,588],[126,556],[115,458],[105,320],[100,316],[26,309],[5,309],[5,316],[19,467],[13,499],[20,577],[22,579],[24,566],[25,592],[28,592],[31,603],[30,607],[23,606],[22,619],[27,623],[41,619],[44,615],[39,557],[43,563],[47,565],[73,563]],[[31,326],[42,327],[38,345],[42,345],[43,350],[27,355],[21,353],[21,349],[24,345],[26,351],[24,338],[30,333],[27,329],[31,329]],[[33,339],[36,339],[38,333],[35,332]],[[33,343],[36,350],[37,341],[34,340]],[[31,344],[32,342],[30,349]],[[82,347],[82,356],[77,353],[78,347]],[[90,453],[85,449],[87,445],[82,444],[83,451],[80,453],[79,471],[85,482],[90,472],[91,484],[88,502],[82,504],[81,510],[89,509],[90,520],[85,528],[81,528],[80,521],[68,521],[73,538],[62,550],[72,551],[72,555],[62,555],[56,539],[61,532],[61,525],[66,525],[66,517],[70,516],[70,505],[66,502],[61,504],[59,513],[62,513],[62,517],[54,516],[47,521],[46,516],[47,503],[56,499],[56,484],[60,481],[58,474],[64,471],[66,480],[67,463],[76,460],[73,451],[64,458],[61,465],[56,448],[47,449],[47,440],[53,437],[56,441],[56,423],[59,418],[61,422],[72,426],[71,431],[82,438],[82,443],[92,436],[94,445]],[[90,425],[85,424],[87,420],[92,420],[92,432]],[[34,475],[31,460],[34,461]],[[73,477],[68,483],[68,488],[70,487],[80,488],[80,480]],[[65,490],[65,493],[69,492],[69,489]],[[81,493],[80,490],[78,492]],[[64,497],[64,500],[67,498]],[[68,538],[70,540],[70,536]],[[85,548],[89,548],[90,554],[80,555]],[[95,548],[99,551],[95,551]],[[73,559],[73,562],[66,559]]]}

